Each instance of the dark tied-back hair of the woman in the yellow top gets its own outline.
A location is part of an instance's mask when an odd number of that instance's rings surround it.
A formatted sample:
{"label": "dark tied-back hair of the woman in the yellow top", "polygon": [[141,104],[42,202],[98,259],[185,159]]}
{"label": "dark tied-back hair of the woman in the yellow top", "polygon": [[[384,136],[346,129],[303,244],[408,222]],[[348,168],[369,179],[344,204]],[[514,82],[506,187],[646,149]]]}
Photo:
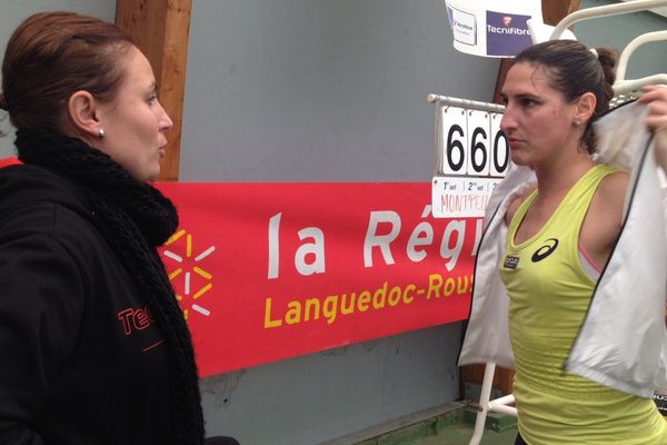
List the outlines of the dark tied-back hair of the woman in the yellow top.
{"label": "dark tied-back hair of the woman in the yellow top", "polygon": [[567,101],[571,102],[585,92],[595,95],[595,111],[581,137],[581,146],[590,154],[597,147],[591,122],[609,109],[618,60],[614,49],[596,48],[595,51],[576,40],[549,40],[526,48],[514,60],[514,63],[527,62],[544,69],[551,88],[560,91]]}

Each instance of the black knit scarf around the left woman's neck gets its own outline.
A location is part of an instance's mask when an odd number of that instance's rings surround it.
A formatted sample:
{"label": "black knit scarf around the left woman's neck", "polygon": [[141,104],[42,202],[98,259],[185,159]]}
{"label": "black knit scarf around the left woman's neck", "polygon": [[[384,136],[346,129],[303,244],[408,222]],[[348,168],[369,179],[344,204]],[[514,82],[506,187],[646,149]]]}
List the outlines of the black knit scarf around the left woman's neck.
{"label": "black knit scarf around the left woman's neck", "polygon": [[80,139],[19,130],[16,146],[22,162],[68,178],[90,202],[97,227],[135,277],[165,336],[178,443],[201,445],[203,417],[190,332],[156,250],[177,229],[176,208],[159,190],[137,181]]}

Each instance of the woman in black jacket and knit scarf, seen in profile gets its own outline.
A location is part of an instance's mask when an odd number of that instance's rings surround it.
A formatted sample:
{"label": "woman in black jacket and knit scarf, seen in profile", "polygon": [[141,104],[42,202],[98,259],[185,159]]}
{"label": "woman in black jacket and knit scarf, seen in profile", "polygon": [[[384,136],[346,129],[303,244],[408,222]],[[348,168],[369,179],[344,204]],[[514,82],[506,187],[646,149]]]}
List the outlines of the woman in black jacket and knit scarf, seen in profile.
{"label": "woman in black jacket and knit scarf, seen in profile", "polygon": [[110,23],[38,13],[7,46],[0,109],[22,162],[0,169],[0,443],[202,444],[156,251],[178,215],[147,182],[172,127],[149,61]]}

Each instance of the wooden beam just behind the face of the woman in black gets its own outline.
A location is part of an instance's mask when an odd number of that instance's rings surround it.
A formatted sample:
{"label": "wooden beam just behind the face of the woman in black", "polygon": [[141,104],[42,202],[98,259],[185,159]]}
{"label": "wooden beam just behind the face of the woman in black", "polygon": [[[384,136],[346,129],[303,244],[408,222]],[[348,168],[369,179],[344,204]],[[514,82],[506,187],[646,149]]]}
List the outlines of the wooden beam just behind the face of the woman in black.
{"label": "wooden beam just behind the face of the woman in black", "polygon": [[118,0],[116,24],[150,61],[160,103],[173,120],[160,180],[178,180],[192,0]]}

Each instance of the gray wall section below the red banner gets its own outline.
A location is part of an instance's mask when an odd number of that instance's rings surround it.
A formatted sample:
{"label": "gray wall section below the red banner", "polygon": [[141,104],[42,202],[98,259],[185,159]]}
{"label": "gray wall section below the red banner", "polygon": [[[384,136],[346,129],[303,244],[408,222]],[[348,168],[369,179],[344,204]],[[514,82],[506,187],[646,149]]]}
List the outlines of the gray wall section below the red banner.
{"label": "gray wall section below the red banner", "polygon": [[319,444],[458,398],[460,324],[205,378],[207,432]]}

